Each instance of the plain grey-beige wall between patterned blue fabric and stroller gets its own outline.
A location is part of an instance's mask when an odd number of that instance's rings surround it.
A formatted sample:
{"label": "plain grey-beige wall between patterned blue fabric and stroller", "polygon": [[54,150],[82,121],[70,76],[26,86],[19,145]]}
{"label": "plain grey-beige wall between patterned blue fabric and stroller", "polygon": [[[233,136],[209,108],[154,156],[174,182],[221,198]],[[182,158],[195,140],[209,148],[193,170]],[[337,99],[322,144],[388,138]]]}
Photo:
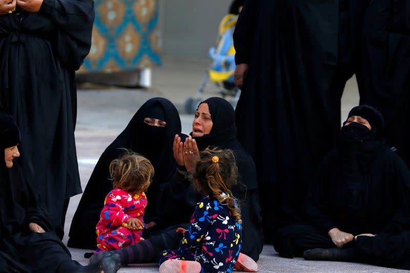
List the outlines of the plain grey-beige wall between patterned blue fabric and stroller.
{"label": "plain grey-beige wall between patterned blue fabric and stroller", "polygon": [[231,0],[162,0],[163,53],[208,58]]}

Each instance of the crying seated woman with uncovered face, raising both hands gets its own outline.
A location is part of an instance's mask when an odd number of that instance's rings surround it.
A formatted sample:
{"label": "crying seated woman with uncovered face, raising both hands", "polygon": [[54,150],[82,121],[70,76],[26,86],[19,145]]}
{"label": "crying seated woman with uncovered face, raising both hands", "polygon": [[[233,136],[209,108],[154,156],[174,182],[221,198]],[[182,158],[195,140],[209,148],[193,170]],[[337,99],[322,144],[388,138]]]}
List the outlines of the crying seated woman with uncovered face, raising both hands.
{"label": "crying seated woman with uncovered face, raising both hands", "polygon": [[[120,254],[122,263],[154,262],[161,251],[178,247],[182,235],[176,233],[177,227],[187,229],[189,219],[194,212],[197,201],[203,198],[192,183],[194,161],[208,146],[219,149],[230,149],[234,152],[238,167],[239,181],[246,186],[231,188],[238,198],[242,219],[241,253],[257,261],[263,247],[260,206],[257,193],[255,163],[236,139],[235,112],[231,104],[218,97],[201,102],[192,123],[191,136],[182,143],[176,135],[174,139],[174,156],[178,170],[174,179],[162,185],[160,200],[163,212],[168,216],[167,222],[174,224],[159,236],[146,240],[122,250],[113,251]],[[185,223],[185,224],[181,224]],[[99,259],[98,255],[90,261]],[[243,260],[242,260],[243,259]],[[237,269],[256,271],[257,265],[249,257],[240,255],[235,266]]]}

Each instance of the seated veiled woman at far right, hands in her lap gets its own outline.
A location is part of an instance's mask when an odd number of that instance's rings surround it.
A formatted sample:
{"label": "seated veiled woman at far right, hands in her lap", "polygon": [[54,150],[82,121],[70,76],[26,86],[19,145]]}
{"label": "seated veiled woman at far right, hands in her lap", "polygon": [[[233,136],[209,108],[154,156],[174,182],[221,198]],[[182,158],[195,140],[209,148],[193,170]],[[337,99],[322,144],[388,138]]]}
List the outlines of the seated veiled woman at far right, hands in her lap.
{"label": "seated veiled woman at far right, hands in her lap", "polygon": [[410,245],[397,244],[401,236],[408,241],[410,171],[384,144],[383,123],[373,107],[350,111],[340,146],[319,166],[308,195],[309,223],[285,226],[275,234],[281,256],[397,268],[410,260]]}

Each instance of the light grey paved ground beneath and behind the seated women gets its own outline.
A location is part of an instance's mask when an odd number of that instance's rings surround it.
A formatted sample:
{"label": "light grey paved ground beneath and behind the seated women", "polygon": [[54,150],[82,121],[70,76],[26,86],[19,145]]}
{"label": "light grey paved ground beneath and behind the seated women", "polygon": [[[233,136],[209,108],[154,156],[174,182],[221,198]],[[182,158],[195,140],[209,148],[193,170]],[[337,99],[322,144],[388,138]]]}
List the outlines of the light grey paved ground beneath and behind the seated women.
{"label": "light grey paved ground beneath and behind the seated women", "polygon": [[[147,99],[162,96],[175,103],[182,122],[182,132],[189,133],[192,115],[183,114],[183,102],[193,96],[202,80],[209,62],[165,59],[162,68],[153,71],[153,88],[149,91],[95,89],[78,91],[78,117],[76,144],[81,185],[85,188],[96,161],[108,144],[126,127],[136,110]],[[204,96],[205,98],[206,96]],[[354,80],[347,83],[342,99],[342,116],[358,103],[357,87]],[[80,195],[71,198],[66,217],[67,243],[68,230]],[[85,250],[71,248],[73,258],[87,264],[83,258]],[[280,258],[272,246],[265,245],[258,262],[260,272],[393,272],[394,269],[365,264],[341,262],[312,262],[303,259]],[[155,264],[129,265],[119,272],[157,272]]]}

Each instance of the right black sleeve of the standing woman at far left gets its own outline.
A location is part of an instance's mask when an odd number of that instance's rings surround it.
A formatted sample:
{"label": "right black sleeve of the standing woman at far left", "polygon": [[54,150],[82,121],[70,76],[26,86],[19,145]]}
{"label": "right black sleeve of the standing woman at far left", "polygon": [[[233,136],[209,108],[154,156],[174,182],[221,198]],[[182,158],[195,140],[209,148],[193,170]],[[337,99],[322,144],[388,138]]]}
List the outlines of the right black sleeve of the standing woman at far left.
{"label": "right black sleeve of the standing woman at far left", "polygon": [[56,48],[63,66],[77,70],[91,48],[92,0],[43,0],[39,13],[58,26]]}

